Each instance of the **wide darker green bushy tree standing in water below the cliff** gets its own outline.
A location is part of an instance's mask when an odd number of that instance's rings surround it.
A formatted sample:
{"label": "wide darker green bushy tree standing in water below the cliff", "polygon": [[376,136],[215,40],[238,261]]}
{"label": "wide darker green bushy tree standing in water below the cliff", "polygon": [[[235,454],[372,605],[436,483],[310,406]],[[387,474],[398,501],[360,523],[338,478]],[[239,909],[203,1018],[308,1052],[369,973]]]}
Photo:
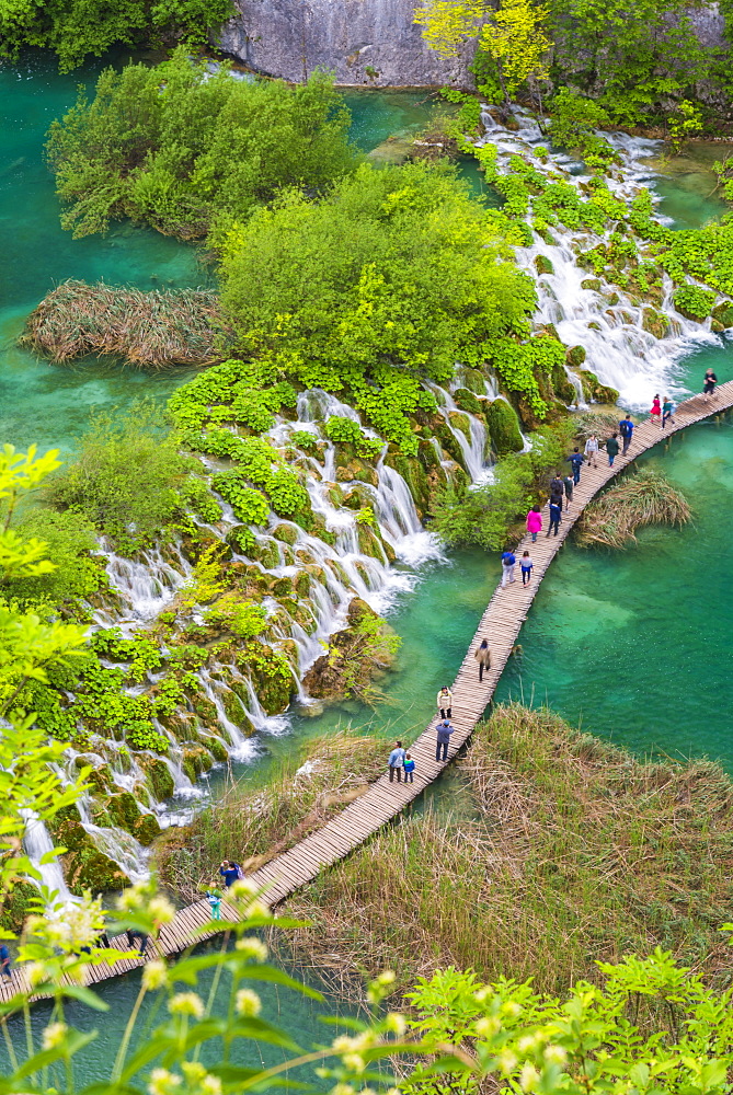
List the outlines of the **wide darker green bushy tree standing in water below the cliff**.
{"label": "wide darker green bushy tree standing in water below the cliff", "polygon": [[283,187],[309,194],[353,169],[350,114],[331,77],[305,85],[214,76],[185,47],[150,68],[105,69],[49,130],[61,216],[75,237],[123,217],[182,239],[245,219]]}

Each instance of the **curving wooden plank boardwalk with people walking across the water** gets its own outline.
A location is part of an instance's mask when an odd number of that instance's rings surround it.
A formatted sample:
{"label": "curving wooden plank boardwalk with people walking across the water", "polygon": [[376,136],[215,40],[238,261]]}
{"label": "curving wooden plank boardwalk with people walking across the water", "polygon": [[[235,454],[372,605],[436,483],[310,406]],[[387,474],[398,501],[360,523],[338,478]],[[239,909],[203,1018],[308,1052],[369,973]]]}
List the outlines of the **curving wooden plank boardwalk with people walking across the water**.
{"label": "curving wooden plank boardwalk with people walking across the water", "polygon": [[[476,724],[481,719],[493,695],[512,648],[516,644],[522,625],[527,619],[527,612],[539,589],[540,581],[583,508],[594,495],[642,452],[646,452],[664,440],[665,436],[678,433],[685,426],[702,422],[705,418],[721,414],[731,407],[733,407],[733,381],[719,385],[712,401],[696,395],[682,403],[675,412],[675,422],[668,423],[664,433],[657,424],[651,420],[641,423],[633,431],[633,440],[628,456],[619,454],[612,468],[608,466],[605,452],[600,452],[596,469],[591,469],[587,464],[584,466],[581,482],[573,493],[572,506],[570,510],[563,511],[560,532],[557,537],[548,538],[546,535],[549,520],[547,507],[545,508],[542,514],[545,529],[539,533],[537,542],[532,544],[530,537],[526,535],[517,549],[518,555],[525,550],[531,554],[535,564],[531,583],[523,587],[517,564],[516,581],[504,589],[501,585],[497,586],[456,677],[453,685],[451,717],[456,733],[450,739],[448,760],[436,761],[435,759],[435,726],[437,723],[437,717],[435,717],[431,721],[427,729],[410,746],[410,752],[415,758],[414,783],[390,783],[387,774],[380,776],[364,795],[328,821],[322,829],[306,837],[288,852],[276,856],[250,876],[257,887],[265,888],[265,897],[271,906],[278,904],[295,890],[316,878],[324,867],[348,855],[415,799],[455,757],[458,749],[469,738]],[[490,671],[484,673],[483,682],[479,683],[474,654],[484,637],[488,638],[491,648],[492,665]],[[199,933],[201,926],[208,921],[209,914],[209,906],[205,900],[181,909],[173,923],[161,930],[158,942],[151,941],[149,943],[147,957],[150,958],[161,953],[164,955],[177,954],[192,944],[216,934],[214,932]],[[222,902],[221,914],[222,930],[225,930],[226,922],[234,920],[236,913]],[[114,940],[112,945],[119,950],[127,950],[127,940],[124,936]],[[104,964],[90,967],[89,983],[124,973],[140,966],[144,960],[133,957],[127,950],[126,957],[121,958],[114,965]],[[22,981],[24,981],[22,968],[14,971],[12,981],[3,979],[3,983],[0,984],[0,999],[10,999],[13,992],[21,987],[19,982]]]}

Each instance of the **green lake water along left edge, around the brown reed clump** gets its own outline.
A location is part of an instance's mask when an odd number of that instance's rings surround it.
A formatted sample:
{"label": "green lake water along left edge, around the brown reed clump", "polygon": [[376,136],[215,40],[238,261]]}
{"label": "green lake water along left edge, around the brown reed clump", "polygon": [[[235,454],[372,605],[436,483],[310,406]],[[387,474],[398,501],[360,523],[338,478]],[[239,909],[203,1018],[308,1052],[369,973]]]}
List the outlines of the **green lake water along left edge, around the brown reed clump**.
{"label": "green lake water along left edge, around the brown reed clump", "polygon": [[45,134],[100,67],[59,76],[49,59],[30,55],[0,68],[0,437],[16,446],[68,450],[92,406],[127,404],[142,393],[162,399],[185,379],[182,371],[151,376],[99,359],[53,366],[20,349],[24,319],[49,289],[69,277],[140,289],[207,280],[193,247],[157,232],[123,224],[104,239],[72,240],[61,230],[43,161]]}

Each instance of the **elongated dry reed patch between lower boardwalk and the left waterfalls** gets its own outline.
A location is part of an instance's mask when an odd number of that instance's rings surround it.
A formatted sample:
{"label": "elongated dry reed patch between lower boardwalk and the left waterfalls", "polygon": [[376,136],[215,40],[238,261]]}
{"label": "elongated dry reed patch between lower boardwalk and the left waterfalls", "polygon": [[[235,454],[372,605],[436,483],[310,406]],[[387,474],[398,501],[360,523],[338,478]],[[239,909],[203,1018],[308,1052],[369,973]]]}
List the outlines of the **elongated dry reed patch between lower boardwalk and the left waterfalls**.
{"label": "elongated dry reed patch between lower boardwalk and the left waterfalls", "polygon": [[161,878],[192,901],[218,877],[222,860],[256,869],[364,794],[386,756],[381,738],[351,729],[311,738],[265,784],[232,782],[190,826],[167,830],[157,851]]}

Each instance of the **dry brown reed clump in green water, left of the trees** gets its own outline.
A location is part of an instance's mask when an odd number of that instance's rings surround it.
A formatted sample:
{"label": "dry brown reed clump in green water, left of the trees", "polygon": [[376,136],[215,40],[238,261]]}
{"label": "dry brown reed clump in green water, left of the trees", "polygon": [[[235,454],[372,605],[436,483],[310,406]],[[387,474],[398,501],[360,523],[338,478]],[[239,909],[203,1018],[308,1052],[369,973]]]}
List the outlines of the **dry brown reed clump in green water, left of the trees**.
{"label": "dry brown reed clump in green water, left of the trees", "polygon": [[214,292],[69,279],[31,312],[21,342],[59,364],[94,354],[161,369],[217,360],[222,331]]}

